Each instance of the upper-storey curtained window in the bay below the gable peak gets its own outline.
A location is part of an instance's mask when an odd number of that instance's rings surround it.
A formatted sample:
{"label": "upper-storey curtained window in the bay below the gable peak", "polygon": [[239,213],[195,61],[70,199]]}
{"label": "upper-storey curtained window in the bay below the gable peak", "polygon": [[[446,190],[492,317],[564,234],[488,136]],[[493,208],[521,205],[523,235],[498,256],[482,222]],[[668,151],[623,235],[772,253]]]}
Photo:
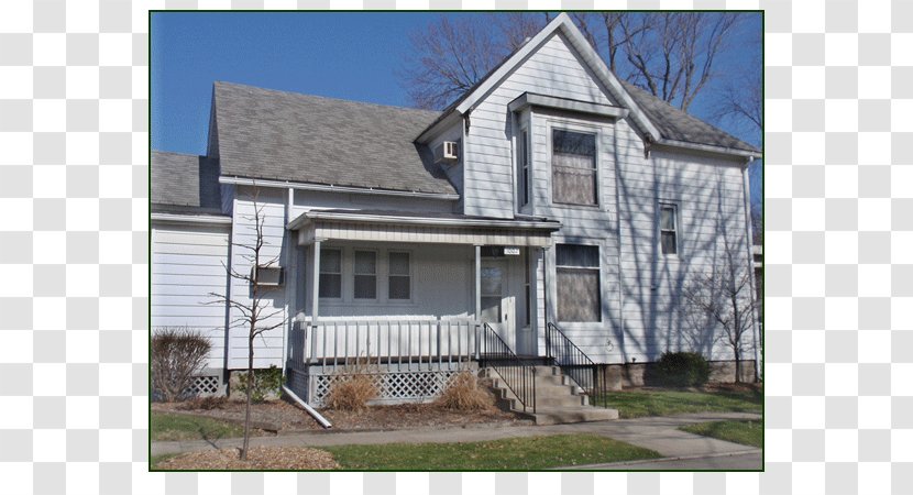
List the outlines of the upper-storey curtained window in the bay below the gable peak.
{"label": "upper-storey curtained window in the bay below the gable peak", "polygon": [[552,200],[598,205],[595,134],[553,129],[551,136]]}

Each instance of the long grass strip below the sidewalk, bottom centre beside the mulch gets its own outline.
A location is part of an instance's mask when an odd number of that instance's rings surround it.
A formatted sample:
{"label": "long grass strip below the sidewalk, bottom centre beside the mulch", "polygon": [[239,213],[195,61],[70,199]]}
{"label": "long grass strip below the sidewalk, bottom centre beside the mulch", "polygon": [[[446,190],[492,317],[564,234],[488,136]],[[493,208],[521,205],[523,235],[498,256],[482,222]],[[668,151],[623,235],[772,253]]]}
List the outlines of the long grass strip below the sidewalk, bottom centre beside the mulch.
{"label": "long grass strip below the sidewalk, bottom centre beside the mulch", "polygon": [[656,459],[660,454],[594,435],[556,435],[469,443],[326,447],[344,470],[542,470]]}

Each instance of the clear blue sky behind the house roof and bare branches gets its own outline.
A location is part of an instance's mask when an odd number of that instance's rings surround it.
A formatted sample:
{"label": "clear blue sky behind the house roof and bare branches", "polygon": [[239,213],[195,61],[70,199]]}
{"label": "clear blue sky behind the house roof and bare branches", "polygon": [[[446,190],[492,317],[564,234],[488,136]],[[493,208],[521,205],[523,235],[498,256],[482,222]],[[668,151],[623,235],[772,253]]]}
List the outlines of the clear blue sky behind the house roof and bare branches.
{"label": "clear blue sky behind the house roof and bare branches", "polygon": [[[408,33],[441,13],[154,13],[152,16],[152,147],[204,154],[212,82],[226,80],[409,106],[396,77],[410,52]],[[447,15],[479,15],[448,13]],[[760,15],[744,29],[759,29]],[[739,48],[719,61],[745,69]],[[711,89],[711,88],[708,88]],[[693,112],[705,118],[705,100]],[[737,130],[727,129],[752,142]]]}

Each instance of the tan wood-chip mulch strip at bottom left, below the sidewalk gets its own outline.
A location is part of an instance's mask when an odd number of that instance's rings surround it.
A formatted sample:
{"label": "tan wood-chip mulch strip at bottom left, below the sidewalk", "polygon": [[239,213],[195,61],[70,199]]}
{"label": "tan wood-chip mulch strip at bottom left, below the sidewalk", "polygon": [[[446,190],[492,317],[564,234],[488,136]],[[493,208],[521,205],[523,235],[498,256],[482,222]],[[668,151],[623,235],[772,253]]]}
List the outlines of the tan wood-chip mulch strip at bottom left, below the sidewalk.
{"label": "tan wood-chip mulch strip at bottom left, below the sidewalk", "polygon": [[238,449],[188,452],[158,462],[156,470],[333,470],[339,464],[327,451],[305,447],[251,447],[248,460]]}

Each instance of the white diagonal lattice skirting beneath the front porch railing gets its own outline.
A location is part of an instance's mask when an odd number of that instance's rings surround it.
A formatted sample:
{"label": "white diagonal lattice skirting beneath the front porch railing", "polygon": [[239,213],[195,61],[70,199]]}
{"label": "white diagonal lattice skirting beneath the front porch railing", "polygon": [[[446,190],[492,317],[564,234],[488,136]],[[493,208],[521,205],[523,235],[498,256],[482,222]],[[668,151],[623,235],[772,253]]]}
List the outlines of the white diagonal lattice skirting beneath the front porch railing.
{"label": "white diagonal lattice skirting beneath the front porch railing", "polygon": [[[399,404],[430,400],[447,388],[450,380],[460,373],[460,370],[433,370],[411,372],[378,372],[367,373],[380,391],[373,403]],[[333,383],[345,380],[343,374],[315,374],[311,369],[309,376],[310,404],[322,407]]]}

